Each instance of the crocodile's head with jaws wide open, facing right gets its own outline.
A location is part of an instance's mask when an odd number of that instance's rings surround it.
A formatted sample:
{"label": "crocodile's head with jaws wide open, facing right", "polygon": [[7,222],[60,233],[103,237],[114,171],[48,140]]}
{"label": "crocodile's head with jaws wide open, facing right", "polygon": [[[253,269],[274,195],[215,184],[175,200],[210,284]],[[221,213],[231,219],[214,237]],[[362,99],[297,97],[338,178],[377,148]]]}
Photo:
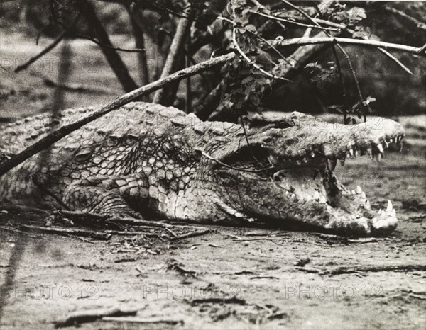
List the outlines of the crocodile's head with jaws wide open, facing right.
{"label": "crocodile's head with jaws wide open, facing right", "polygon": [[400,124],[384,120],[381,129],[373,130],[362,124],[324,128],[274,123],[247,134],[249,146],[234,142],[214,164],[224,189],[222,208],[229,215],[355,236],[383,236],[397,226],[391,201],[386,210],[372,210],[361,187],[347,189],[333,171],[338,160],[344,164],[346,158],[362,155],[381,159],[390,143],[402,140]]}

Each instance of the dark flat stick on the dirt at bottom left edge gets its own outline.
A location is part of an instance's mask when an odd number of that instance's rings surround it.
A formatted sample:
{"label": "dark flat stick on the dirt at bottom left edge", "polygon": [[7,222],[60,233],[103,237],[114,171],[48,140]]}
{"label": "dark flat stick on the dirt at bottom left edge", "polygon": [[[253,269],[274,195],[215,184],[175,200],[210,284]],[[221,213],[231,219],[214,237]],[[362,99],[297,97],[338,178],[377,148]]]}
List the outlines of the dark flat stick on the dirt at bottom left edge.
{"label": "dark flat stick on the dirt at bottom left edge", "polygon": [[136,315],[138,312],[137,309],[119,309],[119,308],[110,308],[110,309],[92,309],[92,310],[83,310],[70,313],[65,319],[55,323],[56,328],[61,328],[64,326],[75,326],[77,324],[93,322],[102,317],[119,317],[119,316],[128,316]]}

